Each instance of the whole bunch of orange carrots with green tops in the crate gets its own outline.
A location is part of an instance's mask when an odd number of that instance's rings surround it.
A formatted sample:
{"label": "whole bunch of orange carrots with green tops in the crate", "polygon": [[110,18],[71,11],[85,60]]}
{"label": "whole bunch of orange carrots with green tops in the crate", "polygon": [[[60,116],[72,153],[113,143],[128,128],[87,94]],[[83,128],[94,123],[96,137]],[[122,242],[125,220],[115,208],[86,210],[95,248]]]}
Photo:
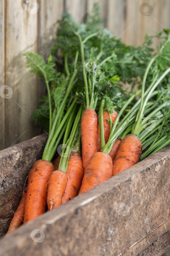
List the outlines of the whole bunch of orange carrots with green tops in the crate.
{"label": "whole bunch of orange carrots with green tops in the crate", "polygon": [[[28,67],[47,85],[49,137],[42,159],[28,172],[8,233],[39,217],[46,207],[51,211],[67,203],[170,144],[168,36],[143,70],[141,89],[127,93],[119,89],[121,77],[109,75],[112,63],[120,65],[124,56],[115,60],[114,50],[107,55],[100,45],[92,45],[100,32],[84,35],[73,26],[76,51],[68,52],[69,46],[63,51],[63,73],[51,55],[46,63],[41,56],[25,54]],[[87,63],[87,55],[95,63]],[[118,89],[123,100],[116,109]]]}

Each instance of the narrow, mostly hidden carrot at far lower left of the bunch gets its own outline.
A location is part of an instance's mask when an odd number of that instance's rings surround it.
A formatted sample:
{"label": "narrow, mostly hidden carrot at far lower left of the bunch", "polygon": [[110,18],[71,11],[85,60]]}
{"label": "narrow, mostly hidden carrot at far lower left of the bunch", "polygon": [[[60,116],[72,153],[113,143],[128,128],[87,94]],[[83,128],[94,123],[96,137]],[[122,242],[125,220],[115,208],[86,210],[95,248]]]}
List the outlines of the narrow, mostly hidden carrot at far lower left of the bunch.
{"label": "narrow, mostly hidden carrot at far lower left of the bunch", "polygon": [[16,209],[15,214],[13,215],[7,234],[12,233],[15,229],[17,229],[17,227],[19,227],[23,223],[26,192],[27,187],[24,189],[24,192],[22,193],[21,201]]}

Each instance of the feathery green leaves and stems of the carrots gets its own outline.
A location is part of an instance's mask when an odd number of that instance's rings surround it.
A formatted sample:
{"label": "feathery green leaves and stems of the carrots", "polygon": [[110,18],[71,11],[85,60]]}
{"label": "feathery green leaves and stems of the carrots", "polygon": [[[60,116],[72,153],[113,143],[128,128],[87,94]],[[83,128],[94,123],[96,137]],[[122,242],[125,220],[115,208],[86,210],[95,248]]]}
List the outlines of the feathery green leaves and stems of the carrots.
{"label": "feathery green leaves and stems of the carrots", "polygon": [[[104,107],[108,111],[110,109],[108,97],[112,106],[119,110],[115,123],[110,123],[111,132],[106,145],[100,119],[103,152],[109,153],[116,138],[123,138],[128,133],[140,135],[141,127],[145,127],[143,118],[148,102],[155,100],[157,93],[170,84],[167,76],[170,71],[167,69],[170,60],[169,30],[164,29],[164,34],[156,35],[164,41],[158,47],[158,53],[152,56],[152,37],[146,36],[139,47],[123,44],[102,27],[97,4],[84,20],[84,23],[78,23],[70,14],[63,14],[59,20],[58,39],[47,63],[37,54],[25,54],[27,67],[39,77],[43,76],[47,86],[48,95],[41,99],[43,103],[34,111],[34,120],[49,132],[43,153],[43,159],[49,161],[55,154],[72,111],[79,105],[84,105],[85,109],[99,109],[102,115]],[[131,85],[130,92],[122,89],[122,82]],[[137,84],[141,89],[135,93],[133,86]],[[139,94],[141,98],[137,101]]]}

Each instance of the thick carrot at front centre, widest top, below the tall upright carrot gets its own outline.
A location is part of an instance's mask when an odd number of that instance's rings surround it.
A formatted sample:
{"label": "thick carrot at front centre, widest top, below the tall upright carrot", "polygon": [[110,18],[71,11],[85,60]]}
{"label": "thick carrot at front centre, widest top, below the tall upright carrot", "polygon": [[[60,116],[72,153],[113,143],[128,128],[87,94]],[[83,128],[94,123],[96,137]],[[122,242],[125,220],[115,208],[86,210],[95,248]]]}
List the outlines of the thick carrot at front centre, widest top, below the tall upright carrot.
{"label": "thick carrot at front centre, widest top, below the tall upright carrot", "polygon": [[112,176],[112,159],[110,155],[97,152],[93,154],[84,170],[84,177],[79,195],[96,187]]}

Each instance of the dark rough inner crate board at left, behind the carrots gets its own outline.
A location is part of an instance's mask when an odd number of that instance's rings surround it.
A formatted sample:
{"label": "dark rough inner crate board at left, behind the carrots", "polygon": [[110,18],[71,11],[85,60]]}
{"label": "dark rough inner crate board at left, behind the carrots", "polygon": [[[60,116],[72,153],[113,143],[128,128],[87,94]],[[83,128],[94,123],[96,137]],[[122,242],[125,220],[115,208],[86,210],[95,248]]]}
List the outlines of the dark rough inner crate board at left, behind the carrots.
{"label": "dark rough inner crate board at left, behind the carrots", "polygon": [[7,230],[19,204],[27,173],[41,159],[47,135],[19,143],[0,151],[0,236]]}

